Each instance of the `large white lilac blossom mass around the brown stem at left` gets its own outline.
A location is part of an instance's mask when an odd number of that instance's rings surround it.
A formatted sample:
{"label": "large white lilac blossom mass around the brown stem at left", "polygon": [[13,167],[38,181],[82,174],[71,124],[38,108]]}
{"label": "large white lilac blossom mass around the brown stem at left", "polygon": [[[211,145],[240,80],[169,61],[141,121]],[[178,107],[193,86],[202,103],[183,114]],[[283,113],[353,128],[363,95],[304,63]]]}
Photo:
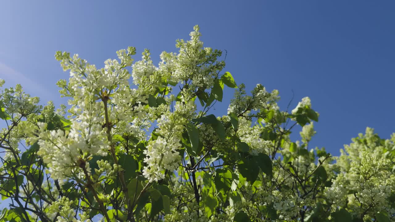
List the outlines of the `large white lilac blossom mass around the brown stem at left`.
{"label": "large white lilac blossom mass around the brown stem at left", "polygon": [[152,115],[146,115],[147,110],[141,103],[146,102],[149,91],[131,89],[130,73],[125,69],[132,64],[130,56],[134,53],[133,47],[117,51],[119,61],[108,59],[99,70],[78,55],[70,58],[68,53],[56,53],[64,70],[70,69],[69,82],[58,82],[62,88],[60,93],[73,99],[68,102],[71,105],[68,110],[71,113],[70,131],[48,131],[45,124],[38,123],[38,154],[49,165],[53,179],[62,182],[78,173],[81,163],[91,156],[107,155],[110,148],[107,127],[121,135],[126,132],[139,139],[144,137],[143,129],[150,126]]}

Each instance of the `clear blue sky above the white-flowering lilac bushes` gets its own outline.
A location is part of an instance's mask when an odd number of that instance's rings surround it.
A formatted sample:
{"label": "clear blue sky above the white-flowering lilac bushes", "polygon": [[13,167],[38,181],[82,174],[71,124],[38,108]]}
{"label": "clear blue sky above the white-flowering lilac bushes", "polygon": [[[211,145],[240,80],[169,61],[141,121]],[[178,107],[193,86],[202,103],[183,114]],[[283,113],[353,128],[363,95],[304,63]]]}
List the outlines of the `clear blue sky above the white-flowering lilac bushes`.
{"label": "clear blue sky above the white-flowering lilac bushes", "polygon": [[394,1],[2,1],[0,78],[58,105],[55,83],[68,73],[55,51],[101,67],[134,46],[135,59],[148,48],[158,63],[199,24],[205,46],[228,51],[224,71],[237,83],[278,89],[282,109],[291,90],[292,109],[310,96],[320,113],[312,145],[339,154],[366,126],[395,132],[394,11]]}

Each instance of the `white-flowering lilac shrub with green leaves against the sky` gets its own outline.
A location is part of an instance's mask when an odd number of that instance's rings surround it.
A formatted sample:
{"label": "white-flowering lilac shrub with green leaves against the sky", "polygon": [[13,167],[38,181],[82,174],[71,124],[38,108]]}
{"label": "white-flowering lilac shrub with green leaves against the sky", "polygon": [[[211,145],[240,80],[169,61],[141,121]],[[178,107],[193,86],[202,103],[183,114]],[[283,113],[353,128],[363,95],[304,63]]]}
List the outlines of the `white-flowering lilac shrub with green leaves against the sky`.
{"label": "white-flowering lilac shrub with green leaves against the sky", "polygon": [[[339,157],[310,149],[310,98],[288,112],[277,90],[248,94],[198,26],[190,36],[158,66],[147,49],[133,63],[133,47],[100,69],[56,52],[67,116],[2,89],[0,221],[395,221],[395,134],[367,128]],[[216,117],[225,86],[235,95]]]}

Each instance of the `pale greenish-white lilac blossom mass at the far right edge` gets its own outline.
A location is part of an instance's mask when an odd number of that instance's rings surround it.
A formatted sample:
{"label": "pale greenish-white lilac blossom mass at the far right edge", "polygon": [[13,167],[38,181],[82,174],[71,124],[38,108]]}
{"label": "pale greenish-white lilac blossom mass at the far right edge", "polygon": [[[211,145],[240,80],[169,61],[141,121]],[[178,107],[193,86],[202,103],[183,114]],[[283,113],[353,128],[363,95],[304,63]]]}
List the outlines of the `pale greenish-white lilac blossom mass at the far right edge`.
{"label": "pale greenish-white lilac blossom mass at the far right edge", "polygon": [[[385,143],[392,148],[392,143]],[[391,160],[384,155],[380,138],[371,128],[365,135],[353,139],[344,146],[337,161],[340,174],[325,194],[336,207],[340,203],[347,206],[354,216],[374,217],[378,211],[395,212],[391,208],[389,196],[395,191],[395,176]]]}

